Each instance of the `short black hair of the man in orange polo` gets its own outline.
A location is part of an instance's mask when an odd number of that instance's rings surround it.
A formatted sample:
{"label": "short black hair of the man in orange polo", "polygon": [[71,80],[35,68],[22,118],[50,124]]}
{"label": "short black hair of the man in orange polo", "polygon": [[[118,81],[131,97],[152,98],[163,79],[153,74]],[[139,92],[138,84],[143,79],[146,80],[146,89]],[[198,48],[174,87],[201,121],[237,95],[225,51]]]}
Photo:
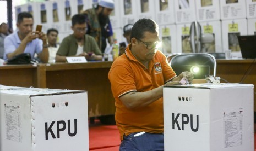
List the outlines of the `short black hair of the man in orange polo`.
{"label": "short black hair of the man in orange polo", "polygon": [[139,19],[132,28],[132,33],[130,34],[130,39],[143,39],[145,32],[159,32],[159,26],[154,20],[151,19]]}

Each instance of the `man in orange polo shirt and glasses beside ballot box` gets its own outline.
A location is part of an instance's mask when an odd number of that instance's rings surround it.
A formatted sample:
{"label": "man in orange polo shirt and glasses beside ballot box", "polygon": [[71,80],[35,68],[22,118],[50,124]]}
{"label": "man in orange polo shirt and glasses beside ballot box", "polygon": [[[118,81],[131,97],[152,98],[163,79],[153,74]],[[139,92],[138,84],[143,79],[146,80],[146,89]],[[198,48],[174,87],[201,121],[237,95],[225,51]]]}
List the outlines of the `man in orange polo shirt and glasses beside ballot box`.
{"label": "man in orange polo shirt and glasses beside ballot box", "polygon": [[157,50],[159,27],[151,19],[133,25],[131,43],[112,64],[108,79],[116,100],[120,150],[164,150],[163,85],[179,84],[193,74],[172,70]]}

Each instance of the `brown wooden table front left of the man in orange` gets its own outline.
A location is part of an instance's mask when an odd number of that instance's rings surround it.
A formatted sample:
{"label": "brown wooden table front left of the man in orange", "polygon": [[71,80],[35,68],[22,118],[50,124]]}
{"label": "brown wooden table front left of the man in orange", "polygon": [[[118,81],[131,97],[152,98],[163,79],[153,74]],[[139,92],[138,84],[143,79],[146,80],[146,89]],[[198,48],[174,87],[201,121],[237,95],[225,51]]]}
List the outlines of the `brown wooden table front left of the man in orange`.
{"label": "brown wooden table front left of the man in orange", "polygon": [[108,80],[112,62],[0,66],[0,84],[88,91],[89,117],[115,114]]}

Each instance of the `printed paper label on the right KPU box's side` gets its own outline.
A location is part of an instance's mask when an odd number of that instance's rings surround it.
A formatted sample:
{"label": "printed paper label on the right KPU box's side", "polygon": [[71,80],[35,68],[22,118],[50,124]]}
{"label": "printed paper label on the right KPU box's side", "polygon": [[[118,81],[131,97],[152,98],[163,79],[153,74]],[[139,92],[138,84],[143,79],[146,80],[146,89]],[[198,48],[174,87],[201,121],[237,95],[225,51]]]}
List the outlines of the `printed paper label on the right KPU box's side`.
{"label": "printed paper label on the right KPU box's side", "polygon": [[243,144],[243,108],[223,112],[224,148]]}

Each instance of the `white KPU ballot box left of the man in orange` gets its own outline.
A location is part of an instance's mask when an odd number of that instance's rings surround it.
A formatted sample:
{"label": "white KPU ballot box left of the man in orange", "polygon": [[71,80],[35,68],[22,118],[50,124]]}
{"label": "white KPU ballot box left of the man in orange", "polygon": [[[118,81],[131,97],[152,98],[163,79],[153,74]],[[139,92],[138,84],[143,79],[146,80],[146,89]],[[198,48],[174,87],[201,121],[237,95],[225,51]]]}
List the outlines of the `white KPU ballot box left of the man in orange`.
{"label": "white KPU ballot box left of the man in orange", "polygon": [[89,150],[87,92],[0,85],[0,151]]}

